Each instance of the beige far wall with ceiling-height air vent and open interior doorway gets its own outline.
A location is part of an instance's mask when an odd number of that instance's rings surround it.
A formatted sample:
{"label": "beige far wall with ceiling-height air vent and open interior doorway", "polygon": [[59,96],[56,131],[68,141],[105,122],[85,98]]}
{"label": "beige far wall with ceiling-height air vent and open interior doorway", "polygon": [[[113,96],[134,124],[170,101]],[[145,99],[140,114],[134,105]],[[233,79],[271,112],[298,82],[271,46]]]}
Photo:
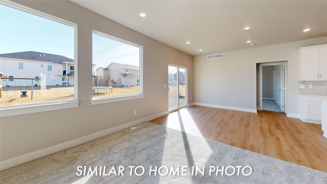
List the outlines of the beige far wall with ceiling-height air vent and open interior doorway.
{"label": "beige far wall with ceiling-height air vent and open interior doorway", "polygon": [[[288,106],[298,113],[298,52],[304,46],[323,44],[327,37],[268,45],[224,53],[224,58],[194,58],[195,103],[256,109],[256,63],[288,61]],[[233,100],[233,103],[230,103]]]}

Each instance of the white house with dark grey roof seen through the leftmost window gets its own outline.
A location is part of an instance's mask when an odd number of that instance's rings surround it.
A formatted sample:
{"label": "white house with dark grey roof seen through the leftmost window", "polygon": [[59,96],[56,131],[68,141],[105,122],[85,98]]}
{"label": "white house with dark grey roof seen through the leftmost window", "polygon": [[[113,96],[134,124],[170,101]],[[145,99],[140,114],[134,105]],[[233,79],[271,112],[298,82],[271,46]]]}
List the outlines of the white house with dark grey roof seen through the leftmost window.
{"label": "white house with dark grey roof seen through the leftmost window", "polygon": [[[9,78],[39,78],[47,86],[74,85],[74,60],[55,54],[19,52],[0,54],[1,71]],[[9,86],[30,86],[30,80],[4,79]],[[40,84],[40,81],[33,81]]]}

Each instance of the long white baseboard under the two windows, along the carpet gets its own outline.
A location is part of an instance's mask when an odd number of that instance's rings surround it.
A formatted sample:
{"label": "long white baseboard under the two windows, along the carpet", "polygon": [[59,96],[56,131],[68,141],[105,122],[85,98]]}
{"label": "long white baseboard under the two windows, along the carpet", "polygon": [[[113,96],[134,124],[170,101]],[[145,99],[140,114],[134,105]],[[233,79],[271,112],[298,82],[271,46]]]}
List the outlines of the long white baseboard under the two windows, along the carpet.
{"label": "long white baseboard under the two windows, along the carpet", "polygon": [[120,125],[120,126],[116,126],[116,127],[112,127],[112,128],[100,131],[100,132],[92,133],[92,134],[80,137],[80,138],[72,140],[72,141],[68,141],[68,142],[61,143],[61,144],[58,144],[58,145],[55,145],[55,146],[51,146],[51,147],[44,148],[44,149],[41,149],[41,150],[33,151],[31,153],[27,153],[27,154],[24,154],[24,155],[20,155],[20,156],[14,157],[14,158],[3,160],[3,161],[0,162],[0,171],[4,170],[4,169],[7,169],[7,168],[10,168],[10,167],[13,167],[13,166],[17,166],[17,165],[22,164],[22,163],[29,162],[30,160],[40,158],[42,156],[46,156],[46,155],[49,155],[49,154],[52,154],[52,153],[56,153],[56,152],[62,151],[64,149],[71,148],[73,146],[77,146],[77,145],[86,143],[88,141],[98,139],[98,138],[100,138],[102,136],[105,136],[105,135],[108,135],[110,133],[126,129],[126,128],[129,128],[129,127],[138,125],[140,123],[147,122],[147,121],[152,120],[152,119],[159,118],[161,116],[165,116],[168,113],[169,113],[169,111],[157,113],[157,114],[154,114],[152,116],[145,117],[145,118],[142,118],[142,119],[139,119],[139,120],[135,120],[135,121],[132,121],[132,122]]}

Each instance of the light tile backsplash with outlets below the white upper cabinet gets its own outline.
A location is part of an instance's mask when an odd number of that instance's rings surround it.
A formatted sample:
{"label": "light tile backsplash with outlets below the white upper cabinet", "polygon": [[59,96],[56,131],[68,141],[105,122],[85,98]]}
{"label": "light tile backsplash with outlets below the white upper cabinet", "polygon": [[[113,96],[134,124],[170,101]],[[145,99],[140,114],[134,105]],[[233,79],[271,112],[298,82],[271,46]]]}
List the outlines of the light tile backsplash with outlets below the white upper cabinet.
{"label": "light tile backsplash with outlets below the white upper cabinet", "polygon": [[[327,96],[327,81],[298,81],[299,85],[305,85],[305,88],[299,88],[300,95]],[[309,88],[312,85],[312,88]]]}

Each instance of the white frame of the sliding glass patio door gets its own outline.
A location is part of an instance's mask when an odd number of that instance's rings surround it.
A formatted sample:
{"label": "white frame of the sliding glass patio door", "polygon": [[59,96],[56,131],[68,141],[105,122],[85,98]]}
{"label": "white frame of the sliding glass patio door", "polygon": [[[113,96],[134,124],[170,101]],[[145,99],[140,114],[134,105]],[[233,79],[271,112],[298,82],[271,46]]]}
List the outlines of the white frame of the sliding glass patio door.
{"label": "white frame of the sliding glass patio door", "polygon": [[[180,65],[175,65],[175,64],[168,64],[168,67],[169,66],[173,66],[173,67],[177,67],[177,92],[179,91],[179,68],[183,68],[185,69],[185,104],[183,106],[179,106],[179,94],[177,94],[177,108],[174,108],[174,109],[171,109],[169,110],[169,96],[168,96],[168,111],[169,112],[173,112],[173,111],[176,111],[176,110],[179,110],[179,109],[182,109],[182,108],[185,108],[188,106],[188,88],[189,88],[189,81],[188,81],[188,68],[185,67],[185,66],[180,66]],[[169,74],[169,70],[168,70],[168,74]],[[168,80],[168,77],[167,77],[167,80]],[[169,84],[169,81],[168,81],[168,84]]]}

